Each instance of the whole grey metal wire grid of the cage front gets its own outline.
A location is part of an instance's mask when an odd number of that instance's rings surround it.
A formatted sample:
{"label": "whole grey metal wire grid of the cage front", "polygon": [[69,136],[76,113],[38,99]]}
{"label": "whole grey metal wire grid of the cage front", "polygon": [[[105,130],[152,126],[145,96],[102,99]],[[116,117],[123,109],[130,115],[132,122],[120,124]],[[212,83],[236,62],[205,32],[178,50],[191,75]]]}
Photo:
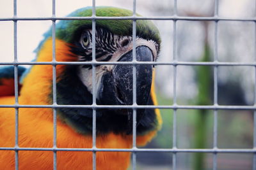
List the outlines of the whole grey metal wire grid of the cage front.
{"label": "whole grey metal wire grid of the cage front", "polygon": [[[256,170],[256,34],[255,34],[255,62],[219,62],[218,61],[218,22],[220,20],[230,21],[251,21],[255,22],[256,32],[256,16],[252,18],[225,18],[218,17],[218,0],[215,0],[214,17],[179,17],[177,15],[177,0],[174,0],[174,15],[172,17],[138,17],[136,16],[136,0],[133,1],[133,15],[132,17],[97,17],[95,15],[95,0],[92,0],[92,17],[56,17],[55,0],[52,0],[52,17],[17,17],[17,0],[13,0],[13,17],[0,18],[0,21],[12,20],[14,27],[14,61],[0,62],[0,65],[13,65],[15,78],[15,104],[14,105],[0,105],[0,108],[15,108],[15,147],[0,147],[0,150],[14,150],[15,151],[15,169],[19,169],[19,150],[42,150],[52,151],[54,153],[54,169],[57,169],[58,151],[90,151],[93,152],[93,169],[96,169],[96,152],[132,152],[132,169],[136,169],[136,152],[171,152],[173,153],[172,169],[176,169],[177,153],[179,152],[205,152],[213,154],[212,169],[217,169],[217,154],[218,153],[253,153],[253,169]],[[97,62],[95,60],[95,20],[132,20],[132,62]],[[55,26],[56,20],[92,20],[92,62],[57,62],[55,50],[52,50],[52,62],[18,62],[17,60],[17,21],[18,20],[52,20],[52,49],[55,49]],[[173,20],[173,61],[172,62],[137,62],[136,61],[136,20]],[[214,61],[213,62],[179,62],[177,61],[177,20],[211,20],[214,21]],[[61,64],[69,65],[92,65],[93,77],[93,104],[92,105],[58,105],[56,103],[56,66]],[[132,64],[133,66],[133,104],[131,106],[103,106],[96,104],[95,98],[95,65],[97,64]],[[136,104],[136,65],[138,64],[156,64],[156,65],[171,65],[173,66],[173,105],[170,106],[138,106]],[[19,65],[52,65],[52,105],[21,105],[18,101],[18,66]],[[182,106],[177,104],[177,66],[214,66],[214,104],[212,106]],[[255,101],[253,106],[219,106],[218,105],[218,66],[253,66],[255,67]],[[19,128],[19,108],[52,108],[53,122],[54,122],[54,139],[52,148],[20,148],[18,139]],[[93,147],[92,148],[57,148],[56,147],[56,109],[57,108],[92,108],[93,109]],[[133,110],[133,124],[132,124],[132,148],[131,149],[114,149],[114,148],[96,148],[96,109],[99,108],[131,108]],[[173,110],[173,147],[166,149],[159,148],[137,148],[136,147],[136,109],[140,108],[159,108]],[[177,148],[177,110],[179,109],[196,109],[196,110],[214,110],[214,127],[213,127],[213,148],[211,149],[180,149]],[[220,149],[217,145],[218,136],[218,110],[254,110],[254,126],[253,126],[253,148],[252,149]]]}

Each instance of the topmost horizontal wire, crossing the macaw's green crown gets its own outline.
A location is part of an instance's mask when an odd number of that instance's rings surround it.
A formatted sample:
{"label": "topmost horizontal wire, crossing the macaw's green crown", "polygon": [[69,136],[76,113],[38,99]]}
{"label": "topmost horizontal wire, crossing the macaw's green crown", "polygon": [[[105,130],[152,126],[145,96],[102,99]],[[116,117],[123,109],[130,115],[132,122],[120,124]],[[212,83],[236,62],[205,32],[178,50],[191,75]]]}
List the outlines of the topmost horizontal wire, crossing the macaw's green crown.
{"label": "topmost horizontal wire, crossing the macaw's green crown", "polygon": [[8,17],[0,18],[0,21],[16,21],[16,20],[212,20],[212,21],[251,21],[255,22],[255,17],[246,18],[228,18],[228,17],[180,17],[180,16],[170,16],[170,17]]}

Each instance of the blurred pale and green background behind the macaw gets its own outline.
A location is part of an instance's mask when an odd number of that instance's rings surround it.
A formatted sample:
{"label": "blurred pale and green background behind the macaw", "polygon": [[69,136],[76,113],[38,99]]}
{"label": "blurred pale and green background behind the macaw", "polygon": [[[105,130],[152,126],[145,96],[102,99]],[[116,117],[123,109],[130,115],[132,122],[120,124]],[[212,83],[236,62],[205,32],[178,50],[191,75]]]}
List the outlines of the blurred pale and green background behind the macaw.
{"label": "blurred pale and green background behind the macaw", "polygon": [[[173,0],[138,0],[136,11],[143,16],[172,16]],[[255,17],[255,0],[220,0],[219,16]],[[91,1],[56,0],[56,16],[63,17]],[[132,10],[132,0],[96,0],[96,6],[116,6]],[[51,17],[51,0],[19,0],[18,17]],[[209,17],[214,15],[214,0],[178,0],[177,15]],[[13,2],[0,1],[0,17],[13,16]],[[159,61],[173,60],[173,21],[153,20],[162,37]],[[18,60],[35,58],[33,51],[52,22],[19,21],[17,29]],[[13,61],[13,22],[0,22],[0,62]],[[179,61],[214,60],[214,22],[177,21]],[[255,22],[218,22],[218,60],[255,62]],[[255,67],[218,67],[218,104],[253,105]],[[159,105],[173,104],[173,66],[156,66],[156,90]],[[177,104],[213,104],[213,67],[177,66]],[[173,111],[161,110],[163,128],[147,148],[172,148]],[[177,147],[212,148],[213,111],[177,110]],[[218,111],[218,148],[253,148],[253,111]],[[171,169],[172,153],[138,153],[138,169]],[[252,169],[251,153],[220,153],[218,169]],[[211,153],[177,153],[177,169],[212,169]]]}

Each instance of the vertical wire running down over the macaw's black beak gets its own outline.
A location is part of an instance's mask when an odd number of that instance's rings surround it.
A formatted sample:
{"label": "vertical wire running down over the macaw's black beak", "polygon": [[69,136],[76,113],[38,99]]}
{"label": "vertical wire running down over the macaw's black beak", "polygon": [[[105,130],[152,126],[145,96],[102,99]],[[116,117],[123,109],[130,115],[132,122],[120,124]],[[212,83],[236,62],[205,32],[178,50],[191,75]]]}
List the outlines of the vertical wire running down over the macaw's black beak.
{"label": "vertical wire running down over the macaw's black beak", "polygon": [[[136,0],[133,1],[133,17],[136,17]],[[136,20],[132,20],[132,62],[136,62]],[[136,89],[136,64],[132,65],[132,102],[133,106],[137,106],[137,89]],[[132,148],[136,146],[136,118],[137,110],[132,109]],[[136,169],[136,152],[132,152],[132,169]]]}

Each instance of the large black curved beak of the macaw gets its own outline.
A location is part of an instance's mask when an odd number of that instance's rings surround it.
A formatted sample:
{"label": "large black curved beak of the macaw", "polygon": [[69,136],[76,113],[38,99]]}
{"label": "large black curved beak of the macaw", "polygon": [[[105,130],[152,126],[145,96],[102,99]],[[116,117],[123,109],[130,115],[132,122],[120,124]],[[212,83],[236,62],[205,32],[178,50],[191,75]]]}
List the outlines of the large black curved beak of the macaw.
{"label": "large black curved beak of the macaw", "polygon": [[[153,54],[147,46],[138,46],[136,48],[136,60],[152,61]],[[132,50],[122,55],[118,61],[132,61]],[[147,105],[150,97],[152,83],[152,65],[136,65],[136,103],[138,105]],[[118,64],[112,72],[107,72],[102,76],[99,89],[100,104],[108,105],[132,105],[132,65]],[[132,131],[132,109],[116,110],[116,114],[127,115],[128,127],[127,133]],[[137,110],[137,122],[143,117],[145,109]]]}

